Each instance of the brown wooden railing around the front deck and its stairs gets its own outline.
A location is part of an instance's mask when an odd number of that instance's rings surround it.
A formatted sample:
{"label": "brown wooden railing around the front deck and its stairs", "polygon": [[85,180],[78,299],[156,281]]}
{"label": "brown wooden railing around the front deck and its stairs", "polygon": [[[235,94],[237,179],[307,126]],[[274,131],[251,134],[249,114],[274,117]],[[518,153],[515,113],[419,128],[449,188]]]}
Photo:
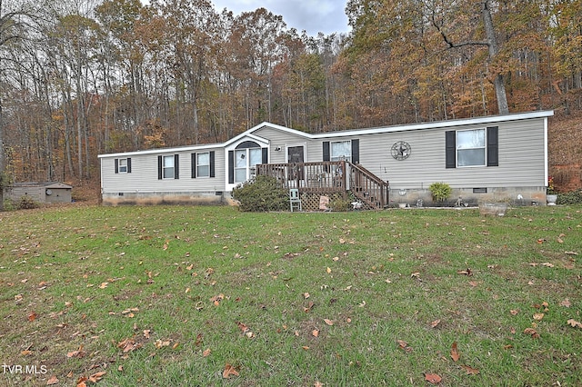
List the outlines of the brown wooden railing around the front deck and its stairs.
{"label": "brown wooden railing around the front deck and its stairs", "polygon": [[256,174],[275,177],[282,187],[297,188],[304,193],[351,191],[366,209],[382,209],[389,204],[388,183],[360,164],[346,161],[257,164]]}

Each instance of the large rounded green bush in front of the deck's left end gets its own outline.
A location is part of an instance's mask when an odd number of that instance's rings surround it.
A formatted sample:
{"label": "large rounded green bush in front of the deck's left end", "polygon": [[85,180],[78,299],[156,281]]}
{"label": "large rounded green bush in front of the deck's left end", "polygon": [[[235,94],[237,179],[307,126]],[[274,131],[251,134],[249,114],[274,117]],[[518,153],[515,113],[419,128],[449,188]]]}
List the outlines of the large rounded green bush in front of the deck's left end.
{"label": "large rounded green bush in front of the deck's left end", "polygon": [[258,175],[233,189],[233,199],[246,212],[285,211],[289,209],[289,192],[277,185],[276,178]]}

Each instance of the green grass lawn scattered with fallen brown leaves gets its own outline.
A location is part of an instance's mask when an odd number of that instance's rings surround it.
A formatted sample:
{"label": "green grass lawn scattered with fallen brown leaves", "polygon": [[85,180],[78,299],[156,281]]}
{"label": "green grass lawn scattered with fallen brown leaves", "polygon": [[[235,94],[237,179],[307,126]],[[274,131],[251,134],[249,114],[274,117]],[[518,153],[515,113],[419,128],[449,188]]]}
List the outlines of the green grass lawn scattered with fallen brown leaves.
{"label": "green grass lawn scattered with fallen brown leaves", "polygon": [[3,386],[582,383],[579,206],[71,206],[0,230]]}

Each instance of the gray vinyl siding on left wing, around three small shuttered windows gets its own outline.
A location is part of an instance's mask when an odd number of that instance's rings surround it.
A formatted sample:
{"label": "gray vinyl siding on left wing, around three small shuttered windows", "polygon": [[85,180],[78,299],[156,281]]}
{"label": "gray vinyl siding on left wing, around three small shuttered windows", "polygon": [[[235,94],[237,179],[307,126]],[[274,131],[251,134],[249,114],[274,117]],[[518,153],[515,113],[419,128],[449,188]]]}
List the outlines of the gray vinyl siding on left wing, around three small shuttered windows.
{"label": "gray vinyl siding on left wing, around three small shuttered windows", "polygon": [[[191,154],[215,152],[215,177],[191,177]],[[179,179],[157,178],[157,156],[179,155]],[[104,193],[216,192],[225,187],[225,151],[223,148],[196,149],[156,154],[127,154],[131,157],[131,173],[115,174],[115,159],[101,159],[101,179]]]}

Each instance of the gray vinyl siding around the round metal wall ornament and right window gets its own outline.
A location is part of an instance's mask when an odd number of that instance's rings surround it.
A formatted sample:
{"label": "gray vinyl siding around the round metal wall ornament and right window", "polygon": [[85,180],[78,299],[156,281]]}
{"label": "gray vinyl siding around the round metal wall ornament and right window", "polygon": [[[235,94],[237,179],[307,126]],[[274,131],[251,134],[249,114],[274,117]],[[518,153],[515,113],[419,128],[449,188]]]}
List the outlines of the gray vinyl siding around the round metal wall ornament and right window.
{"label": "gray vinyl siding around the round metal wall ornament and right window", "polygon": [[[422,189],[435,182],[454,188],[543,186],[545,184],[544,120],[496,124],[499,166],[445,167],[447,130],[486,128],[487,125],[423,129],[360,137],[360,164],[393,188]],[[390,147],[396,141],[412,147],[409,158],[395,160]]]}

